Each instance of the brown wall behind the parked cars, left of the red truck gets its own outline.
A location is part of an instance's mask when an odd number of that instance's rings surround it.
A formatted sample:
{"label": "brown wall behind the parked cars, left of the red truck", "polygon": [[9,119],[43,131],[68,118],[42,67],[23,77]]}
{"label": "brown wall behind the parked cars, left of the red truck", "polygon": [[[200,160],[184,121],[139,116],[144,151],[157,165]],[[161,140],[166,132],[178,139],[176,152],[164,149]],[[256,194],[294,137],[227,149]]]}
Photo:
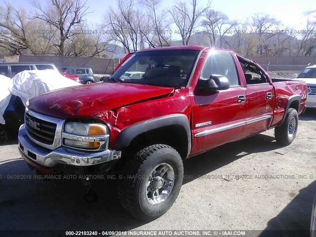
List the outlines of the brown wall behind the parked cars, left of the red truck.
{"label": "brown wall behind the parked cars, left of the red truck", "polygon": [[6,62],[46,62],[53,63],[57,68],[62,67],[85,67],[92,68],[95,74],[112,74],[118,65],[119,59],[107,58],[84,58],[67,56],[40,56],[19,55],[5,57]]}

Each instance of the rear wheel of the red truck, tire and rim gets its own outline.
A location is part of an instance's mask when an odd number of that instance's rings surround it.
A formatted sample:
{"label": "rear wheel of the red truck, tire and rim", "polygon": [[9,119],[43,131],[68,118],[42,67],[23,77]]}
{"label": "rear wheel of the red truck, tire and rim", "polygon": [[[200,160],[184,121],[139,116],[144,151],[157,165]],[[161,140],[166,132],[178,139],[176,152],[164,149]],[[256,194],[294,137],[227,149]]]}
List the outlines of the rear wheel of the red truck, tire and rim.
{"label": "rear wheel of the red truck, tire and rim", "polygon": [[290,145],[296,136],[298,128],[297,111],[293,108],[288,109],[283,123],[275,128],[276,142],[282,145]]}

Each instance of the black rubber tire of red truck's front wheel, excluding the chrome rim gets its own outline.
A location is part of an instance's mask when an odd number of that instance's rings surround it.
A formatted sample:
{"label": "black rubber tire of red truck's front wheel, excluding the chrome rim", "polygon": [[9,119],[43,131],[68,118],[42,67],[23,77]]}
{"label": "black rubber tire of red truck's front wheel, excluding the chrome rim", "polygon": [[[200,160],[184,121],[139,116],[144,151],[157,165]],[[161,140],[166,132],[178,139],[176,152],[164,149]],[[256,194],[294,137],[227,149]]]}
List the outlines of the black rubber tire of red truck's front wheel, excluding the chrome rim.
{"label": "black rubber tire of red truck's front wheel, excluding the chrome rim", "polygon": [[[160,163],[173,168],[173,188],[164,201],[151,204],[147,199],[146,184]],[[126,158],[122,166],[123,174],[118,176],[118,197],[124,209],[143,221],[155,220],[170,209],[183,181],[183,162],[175,149],[163,144],[148,146]]]}

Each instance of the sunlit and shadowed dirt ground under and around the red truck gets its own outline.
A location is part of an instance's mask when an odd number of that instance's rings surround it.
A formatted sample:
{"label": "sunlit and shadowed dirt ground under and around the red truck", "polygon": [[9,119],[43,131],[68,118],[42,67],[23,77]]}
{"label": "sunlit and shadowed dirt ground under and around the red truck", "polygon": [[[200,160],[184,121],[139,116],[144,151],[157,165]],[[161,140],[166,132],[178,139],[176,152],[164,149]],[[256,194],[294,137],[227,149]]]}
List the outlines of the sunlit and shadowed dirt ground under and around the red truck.
{"label": "sunlit and shadowed dirt ground under and around the red truck", "polygon": [[315,120],[315,110],[300,116],[288,147],[278,146],[270,130],[190,158],[176,203],[150,223],[124,212],[115,180],[95,181],[99,199],[87,203],[78,181],[34,178],[13,139],[0,147],[0,230],[308,230],[316,192]]}

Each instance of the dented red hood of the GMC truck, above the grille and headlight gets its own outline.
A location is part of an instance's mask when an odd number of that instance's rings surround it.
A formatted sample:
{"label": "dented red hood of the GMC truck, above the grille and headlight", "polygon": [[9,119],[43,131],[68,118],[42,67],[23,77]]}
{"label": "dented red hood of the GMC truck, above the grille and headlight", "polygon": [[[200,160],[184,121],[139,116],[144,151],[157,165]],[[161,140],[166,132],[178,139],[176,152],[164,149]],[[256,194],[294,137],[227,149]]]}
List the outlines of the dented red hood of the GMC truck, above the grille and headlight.
{"label": "dented red hood of the GMC truck, above the grille and headlight", "polygon": [[29,100],[29,108],[57,118],[91,118],[93,115],[170,94],[174,88],[95,83],[50,91]]}

